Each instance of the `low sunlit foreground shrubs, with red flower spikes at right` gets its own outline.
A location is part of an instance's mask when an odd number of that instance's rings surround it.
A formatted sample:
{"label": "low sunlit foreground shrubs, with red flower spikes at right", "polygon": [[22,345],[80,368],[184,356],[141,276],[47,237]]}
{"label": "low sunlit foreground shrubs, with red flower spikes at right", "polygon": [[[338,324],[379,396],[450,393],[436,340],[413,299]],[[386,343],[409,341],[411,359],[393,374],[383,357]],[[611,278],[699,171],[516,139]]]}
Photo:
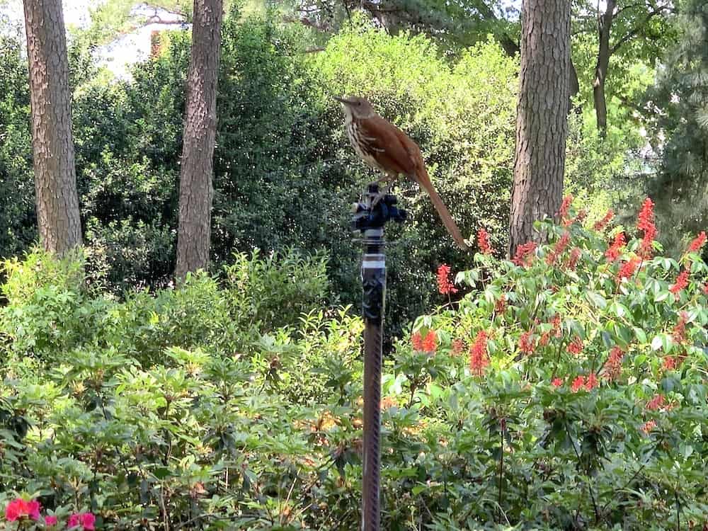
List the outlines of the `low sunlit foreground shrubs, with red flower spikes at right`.
{"label": "low sunlit foreground shrubs, with red flower spikes at right", "polygon": [[[640,260],[639,239],[608,259],[617,228],[539,229],[552,243],[529,265],[477,254],[458,275],[472,290],[413,325],[427,346],[399,341],[385,361],[382,527],[700,528],[708,265],[696,252]],[[273,279],[302,278],[300,258],[282,271],[250,261],[237,258],[227,278],[261,275],[244,285],[276,292]],[[49,275],[64,290],[80,270],[40,256],[14,267],[16,304]],[[682,268],[687,285],[671,289]],[[120,328],[46,364],[11,339],[0,506],[34,493],[59,515],[91,510],[103,529],[355,529],[362,322],[341,309],[265,334],[247,320],[227,329],[217,316],[237,290],[200,275],[136,294],[108,309]]]}

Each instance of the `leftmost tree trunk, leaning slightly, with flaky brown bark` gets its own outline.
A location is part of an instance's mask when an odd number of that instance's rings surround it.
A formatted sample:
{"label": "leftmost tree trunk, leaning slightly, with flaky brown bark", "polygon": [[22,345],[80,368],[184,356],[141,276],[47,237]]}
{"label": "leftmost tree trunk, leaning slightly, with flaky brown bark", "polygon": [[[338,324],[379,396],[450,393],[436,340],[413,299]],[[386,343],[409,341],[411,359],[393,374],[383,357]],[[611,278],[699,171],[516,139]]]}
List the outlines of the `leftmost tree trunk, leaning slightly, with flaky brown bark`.
{"label": "leftmost tree trunk, leaning slightly, with flaky brown bark", "polygon": [[40,241],[59,256],[81,246],[62,0],[24,0]]}

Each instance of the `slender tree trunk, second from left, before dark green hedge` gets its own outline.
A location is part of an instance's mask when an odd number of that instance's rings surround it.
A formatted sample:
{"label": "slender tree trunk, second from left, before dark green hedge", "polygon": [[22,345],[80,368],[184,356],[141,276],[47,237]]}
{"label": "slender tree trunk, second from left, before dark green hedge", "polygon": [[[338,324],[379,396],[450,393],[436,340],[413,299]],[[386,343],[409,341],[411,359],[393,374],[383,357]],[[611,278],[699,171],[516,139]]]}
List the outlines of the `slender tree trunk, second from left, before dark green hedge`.
{"label": "slender tree trunk, second from left, before dark green hedge", "polygon": [[179,190],[180,280],[209,265],[222,16],[222,0],[194,0]]}

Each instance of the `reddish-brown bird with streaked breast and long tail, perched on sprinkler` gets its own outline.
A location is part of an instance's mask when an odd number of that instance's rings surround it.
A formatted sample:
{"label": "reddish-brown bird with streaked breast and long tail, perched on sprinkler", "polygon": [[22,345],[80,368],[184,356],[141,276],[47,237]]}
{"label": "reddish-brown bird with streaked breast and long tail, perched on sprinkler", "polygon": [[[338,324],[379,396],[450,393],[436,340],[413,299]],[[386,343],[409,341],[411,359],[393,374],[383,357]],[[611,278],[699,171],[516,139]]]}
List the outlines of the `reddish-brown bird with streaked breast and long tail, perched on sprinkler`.
{"label": "reddish-brown bird with streaked breast and long tail, perched on sprinkler", "polygon": [[346,130],[360,158],[375,170],[384,173],[379,182],[395,181],[403,175],[418,183],[433,201],[442,223],[458,246],[469,249],[452,220],[450,211],[430,182],[421,148],[406,133],[379,116],[365,98],[334,98],[344,107]]}

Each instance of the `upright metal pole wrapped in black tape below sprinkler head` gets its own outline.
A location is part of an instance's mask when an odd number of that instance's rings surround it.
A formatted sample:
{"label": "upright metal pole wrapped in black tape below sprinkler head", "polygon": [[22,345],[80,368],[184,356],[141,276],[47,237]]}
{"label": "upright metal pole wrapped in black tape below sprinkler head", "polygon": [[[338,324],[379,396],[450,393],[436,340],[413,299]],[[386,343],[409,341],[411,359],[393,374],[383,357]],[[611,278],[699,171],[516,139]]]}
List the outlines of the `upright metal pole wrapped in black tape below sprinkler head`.
{"label": "upright metal pole wrapped in black tape below sprinkler head", "polygon": [[379,470],[381,469],[381,363],[386,291],[384,229],[364,232],[361,266],[364,287],[364,474],[362,531],[379,531]]}

